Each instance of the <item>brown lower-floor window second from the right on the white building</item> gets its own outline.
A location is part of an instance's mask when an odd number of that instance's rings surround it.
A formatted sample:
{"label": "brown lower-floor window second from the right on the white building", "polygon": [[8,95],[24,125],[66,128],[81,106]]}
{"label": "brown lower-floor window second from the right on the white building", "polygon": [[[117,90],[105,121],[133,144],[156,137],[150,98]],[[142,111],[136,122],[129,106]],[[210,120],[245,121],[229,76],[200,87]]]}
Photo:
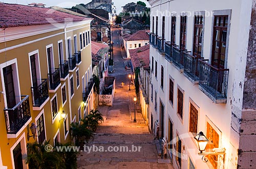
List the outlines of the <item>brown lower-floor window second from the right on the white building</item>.
{"label": "brown lower-floor window second from the right on the white building", "polygon": [[193,133],[196,136],[197,134],[197,119],[198,119],[198,110],[196,107],[190,103],[190,112],[189,112],[189,132]]}

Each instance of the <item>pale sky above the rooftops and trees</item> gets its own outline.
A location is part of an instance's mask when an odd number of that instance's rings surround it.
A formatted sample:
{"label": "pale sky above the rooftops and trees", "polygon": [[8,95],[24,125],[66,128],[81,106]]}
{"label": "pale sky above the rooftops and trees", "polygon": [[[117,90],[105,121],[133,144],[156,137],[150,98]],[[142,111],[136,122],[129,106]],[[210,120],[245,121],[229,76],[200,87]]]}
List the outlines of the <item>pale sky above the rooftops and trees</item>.
{"label": "pale sky above the rooftops and trees", "polygon": [[[51,7],[51,6],[59,6],[62,8],[69,8],[72,6],[75,6],[76,4],[87,4],[89,2],[91,2],[91,0],[71,0],[71,1],[63,1],[63,0],[0,0],[1,2],[4,3],[9,3],[9,4],[23,4],[23,5],[28,5],[31,3],[43,3],[46,4],[46,7]],[[127,0],[127,1],[120,1],[120,0],[112,0],[114,2],[114,5],[116,6],[116,12],[117,14],[119,14],[119,12],[121,12],[122,10],[122,6],[124,6],[127,3],[137,3],[137,1],[142,1],[146,4],[147,7],[149,7],[150,5],[147,3],[147,1],[145,0]]]}

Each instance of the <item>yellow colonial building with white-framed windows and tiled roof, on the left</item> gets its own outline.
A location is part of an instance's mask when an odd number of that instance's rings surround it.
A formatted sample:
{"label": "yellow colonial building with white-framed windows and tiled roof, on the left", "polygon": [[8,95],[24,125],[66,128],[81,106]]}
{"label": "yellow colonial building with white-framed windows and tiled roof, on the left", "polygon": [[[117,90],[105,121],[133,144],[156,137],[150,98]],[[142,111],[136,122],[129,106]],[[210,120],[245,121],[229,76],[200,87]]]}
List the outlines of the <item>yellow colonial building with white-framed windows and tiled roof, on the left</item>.
{"label": "yellow colonial building with white-framed windows and tiled roof, on the left", "polygon": [[0,168],[28,168],[28,142],[68,142],[70,124],[94,109],[92,19],[24,5],[0,8]]}

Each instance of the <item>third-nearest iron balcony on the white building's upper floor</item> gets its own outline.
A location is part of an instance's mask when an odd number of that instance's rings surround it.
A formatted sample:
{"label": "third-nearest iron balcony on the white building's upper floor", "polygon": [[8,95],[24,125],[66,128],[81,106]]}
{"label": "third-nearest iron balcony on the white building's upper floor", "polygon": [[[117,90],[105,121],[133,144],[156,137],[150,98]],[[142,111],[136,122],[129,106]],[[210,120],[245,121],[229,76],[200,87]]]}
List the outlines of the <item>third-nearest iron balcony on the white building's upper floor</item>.
{"label": "third-nearest iron balcony on the white building's upper floor", "polygon": [[173,63],[180,69],[183,68],[183,51],[185,50],[179,49],[177,45],[172,45]]}

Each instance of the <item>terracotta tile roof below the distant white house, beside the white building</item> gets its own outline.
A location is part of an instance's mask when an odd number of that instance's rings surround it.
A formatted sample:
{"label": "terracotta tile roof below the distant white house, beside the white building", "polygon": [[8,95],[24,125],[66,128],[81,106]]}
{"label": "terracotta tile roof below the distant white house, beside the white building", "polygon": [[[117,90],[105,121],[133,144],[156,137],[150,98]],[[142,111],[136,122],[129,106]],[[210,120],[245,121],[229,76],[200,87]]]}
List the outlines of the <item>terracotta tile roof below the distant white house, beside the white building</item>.
{"label": "terracotta tile roof below the distant white house, beside the white building", "polygon": [[133,67],[150,67],[150,44],[129,50]]}

